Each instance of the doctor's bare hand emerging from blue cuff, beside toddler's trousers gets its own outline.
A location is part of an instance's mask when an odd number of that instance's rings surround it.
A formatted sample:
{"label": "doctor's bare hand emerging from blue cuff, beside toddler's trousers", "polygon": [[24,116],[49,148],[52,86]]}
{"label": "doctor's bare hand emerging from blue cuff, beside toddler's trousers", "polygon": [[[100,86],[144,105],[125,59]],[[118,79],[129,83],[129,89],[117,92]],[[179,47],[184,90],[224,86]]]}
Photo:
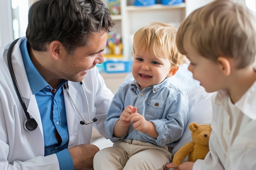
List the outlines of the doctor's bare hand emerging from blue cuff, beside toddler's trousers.
{"label": "doctor's bare hand emerging from blue cuff, beside toddler's trousers", "polygon": [[93,157],[99,148],[91,144],[81,144],[68,149],[75,170],[93,170]]}

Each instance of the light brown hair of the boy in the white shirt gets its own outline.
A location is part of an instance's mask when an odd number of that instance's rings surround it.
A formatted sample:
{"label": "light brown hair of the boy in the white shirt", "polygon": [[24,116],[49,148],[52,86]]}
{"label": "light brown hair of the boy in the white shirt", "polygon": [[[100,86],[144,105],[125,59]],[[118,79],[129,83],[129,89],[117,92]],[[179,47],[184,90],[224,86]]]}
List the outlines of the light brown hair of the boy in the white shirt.
{"label": "light brown hair of the boy in the white shirt", "polygon": [[184,41],[202,57],[217,62],[218,57],[231,57],[237,68],[255,60],[256,18],[243,4],[215,0],[193,11],[180,25],[177,48],[182,54]]}

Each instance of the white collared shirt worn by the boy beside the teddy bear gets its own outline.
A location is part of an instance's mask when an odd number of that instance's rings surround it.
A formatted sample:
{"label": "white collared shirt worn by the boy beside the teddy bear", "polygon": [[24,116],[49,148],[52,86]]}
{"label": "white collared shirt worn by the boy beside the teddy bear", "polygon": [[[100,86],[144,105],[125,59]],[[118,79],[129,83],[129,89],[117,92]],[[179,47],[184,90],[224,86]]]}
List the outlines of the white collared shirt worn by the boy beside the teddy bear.
{"label": "white collared shirt worn by the boy beside the teddy bear", "polygon": [[256,170],[256,82],[235,104],[224,90],[212,104],[210,151],[193,170]]}

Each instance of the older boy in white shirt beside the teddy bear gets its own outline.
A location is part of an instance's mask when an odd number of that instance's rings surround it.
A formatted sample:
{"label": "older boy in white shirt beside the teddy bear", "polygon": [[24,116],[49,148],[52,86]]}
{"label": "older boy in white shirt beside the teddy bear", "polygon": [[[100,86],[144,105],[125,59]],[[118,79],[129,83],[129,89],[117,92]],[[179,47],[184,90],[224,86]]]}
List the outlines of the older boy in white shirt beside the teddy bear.
{"label": "older boy in white shirt beside the teddy bear", "polygon": [[207,156],[165,169],[255,170],[255,16],[242,4],[215,0],[182,22],[177,47],[190,60],[193,77],[207,92],[217,92]]}

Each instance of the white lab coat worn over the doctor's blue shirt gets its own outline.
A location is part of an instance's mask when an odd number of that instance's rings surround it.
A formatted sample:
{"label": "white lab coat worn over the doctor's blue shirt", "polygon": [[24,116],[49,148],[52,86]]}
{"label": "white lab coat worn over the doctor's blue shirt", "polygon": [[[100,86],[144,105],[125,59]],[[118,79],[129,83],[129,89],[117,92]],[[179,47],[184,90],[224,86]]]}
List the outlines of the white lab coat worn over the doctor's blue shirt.
{"label": "white lab coat worn over the doctor's blue shirt", "polygon": [[[23,39],[23,38],[22,38]],[[36,98],[32,95],[20,53],[21,39],[12,52],[13,70],[31,117],[36,119],[36,130],[27,131],[23,123],[26,119],[9,73],[7,49],[0,48],[0,170],[59,170],[56,154],[44,157],[43,127]],[[4,57],[3,57],[4,56]],[[68,82],[72,99],[77,108],[88,120],[87,104],[82,88],[77,82]],[[78,144],[90,144],[92,126],[107,138],[104,121],[113,93],[104,84],[97,68],[85,75],[83,86],[88,98],[90,117],[98,120],[90,125],[81,125],[81,117],[72,105],[67,91],[63,89],[67,126],[69,133],[68,148]]]}

